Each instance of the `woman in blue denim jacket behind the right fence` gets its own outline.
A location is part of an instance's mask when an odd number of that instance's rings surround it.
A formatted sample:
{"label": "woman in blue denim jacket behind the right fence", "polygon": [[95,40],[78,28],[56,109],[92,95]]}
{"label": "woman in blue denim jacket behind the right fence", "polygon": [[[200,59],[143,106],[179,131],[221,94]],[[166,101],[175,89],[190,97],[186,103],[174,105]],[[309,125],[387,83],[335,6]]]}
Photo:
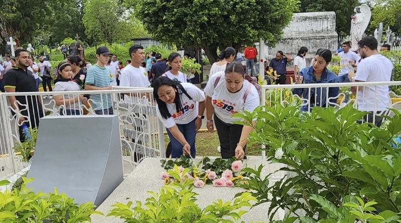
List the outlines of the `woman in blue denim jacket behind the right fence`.
{"label": "woman in blue denim jacket behind the right fence", "polygon": [[[299,77],[295,77],[296,84],[317,84],[317,83],[338,83],[338,77],[332,71],[327,69],[327,65],[331,62],[331,51],[320,49],[315,55],[313,66],[301,70]],[[292,93],[298,95],[304,101],[301,106],[301,111],[312,110],[314,106],[327,107],[334,106],[337,102],[337,96],[340,91],[339,87],[327,88],[294,88]],[[327,99],[329,101],[327,101]],[[308,104],[309,103],[309,104]]]}

